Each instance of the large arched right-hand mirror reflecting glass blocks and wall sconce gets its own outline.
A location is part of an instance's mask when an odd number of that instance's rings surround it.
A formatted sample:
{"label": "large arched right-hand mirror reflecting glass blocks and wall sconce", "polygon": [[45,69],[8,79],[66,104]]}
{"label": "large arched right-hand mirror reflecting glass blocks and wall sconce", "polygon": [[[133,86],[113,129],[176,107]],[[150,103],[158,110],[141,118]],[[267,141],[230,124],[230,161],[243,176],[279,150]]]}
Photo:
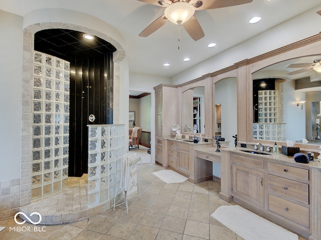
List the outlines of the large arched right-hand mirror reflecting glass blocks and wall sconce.
{"label": "large arched right-hand mirror reflecting glass blocks and wall sconce", "polygon": [[[253,140],[321,144],[321,55],[278,62],[252,74]],[[318,123],[318,124],[316,124]]]}

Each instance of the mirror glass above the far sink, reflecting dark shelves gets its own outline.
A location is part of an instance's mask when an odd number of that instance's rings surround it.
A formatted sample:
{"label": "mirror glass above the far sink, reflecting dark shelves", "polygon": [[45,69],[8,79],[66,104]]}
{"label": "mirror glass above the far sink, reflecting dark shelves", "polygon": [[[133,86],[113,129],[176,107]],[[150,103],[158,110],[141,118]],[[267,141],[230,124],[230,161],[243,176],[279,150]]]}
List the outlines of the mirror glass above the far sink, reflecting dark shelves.
{"label": "mirror glass above the far sink, reflecting dark shelves", "polygon": [[182,129],[184,132],[205,133],[204,98],[204,86],[197,86],[183,92]]}

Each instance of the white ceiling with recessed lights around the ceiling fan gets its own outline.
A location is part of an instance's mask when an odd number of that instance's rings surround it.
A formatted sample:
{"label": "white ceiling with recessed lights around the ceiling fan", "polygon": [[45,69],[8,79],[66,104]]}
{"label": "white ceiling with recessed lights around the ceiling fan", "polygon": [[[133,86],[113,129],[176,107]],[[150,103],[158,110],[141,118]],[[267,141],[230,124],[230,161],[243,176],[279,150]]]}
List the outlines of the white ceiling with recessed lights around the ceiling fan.
{"label": "white ceiling with recessed lights around the ceiling fan", "polygon": [[[320,0],[253,0],[238,6],[199,10],[195,17],[205,37],[194,41],[181,27],[180,43],[178,25],[170,21],[148,37],[138,36],[165,9],[138,0],[0,0],[0,9],[21,16],[40,8],[66,8],[93,15],[123,35],[130,71],[171,77],[320,3]],[[261,16],[261,21],[248,23],[256,15]],[[210,42],[217,45],[208,48]],[[185,57],[191,60],[185,62]],[[171,65],[166,67],[165,62]]]}

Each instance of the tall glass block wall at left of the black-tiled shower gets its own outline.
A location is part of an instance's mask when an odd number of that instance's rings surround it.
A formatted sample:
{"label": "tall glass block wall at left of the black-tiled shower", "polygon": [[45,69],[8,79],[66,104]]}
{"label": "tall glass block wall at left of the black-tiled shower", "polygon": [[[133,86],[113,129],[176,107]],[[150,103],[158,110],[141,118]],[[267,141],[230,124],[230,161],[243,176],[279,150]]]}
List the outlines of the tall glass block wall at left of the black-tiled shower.
{"label": "tall glass block wall at left of the black-tiled shower", "polygon": [[70,63],[34,51],[32,200],[68,187]]}

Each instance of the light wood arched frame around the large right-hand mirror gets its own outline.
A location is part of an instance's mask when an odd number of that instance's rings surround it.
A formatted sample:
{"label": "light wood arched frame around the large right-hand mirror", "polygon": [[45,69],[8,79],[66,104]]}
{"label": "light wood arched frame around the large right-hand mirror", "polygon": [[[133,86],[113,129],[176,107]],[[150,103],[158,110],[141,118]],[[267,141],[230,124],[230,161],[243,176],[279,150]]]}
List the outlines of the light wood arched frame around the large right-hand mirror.
{"label": "light wood arched frame around the large right-hand mirror", "polygon": [[[313,39],[313,37],[303,39],[302,41],[290,44],[285,47],[281,47],[275,51],[271,51],[271,55],[274,52],[274,54],[270,57],[263,57],[264,55],[268,56],[269,54],[263,54],[262,60],[255,60],[253,58],[253,63],[247,64],[245,66],[242,66],[239,68],[239,75],[241,73],[241,79],[243,82],[246,82],[246,92],[248,96],[252,96],[253,94],[253,80],[252,80],[252,73],[263,69],[264,67],[267,67],[269,65],[275,64],[277,62],[285,61],[288,59],[293,59],[301,56],[306,55],[316,55],[321,53],[321,42],[320,42],[320,35],[317,35],[317,39]],[[308,40],[311,40],[311,43],[308,42]],[[301,45],[301,46],[300,46]],[[282,50],[283,49],[283,50]],[[288,50],[290,49],[290,50]],[[276,54],[276,52],[280,52]],[[260,56],[257,57],[258,59]],[[250,60],[249,60],[250,61]],[[243,71],[242,71],[243,68]],[[242,74],[243,72],[243,74]],[[239,79],[238,79],[239,80]],[[244,88],[240,86],[240,82],[238,82],[238,94],[241,95],[243,91],[244,94]],[[244,103],[244,102],[243,102]],[[255,144],[258,140],[253,139],[253,130],[252,130],[252,119],[253,119],[253,112],[252,112],[252,106],[253,106],[253,98],[248,97],[247,102],[243,104],[240,98],[238,97],[238,121],[239,119],[242,119],[244,117],[244,112],[247,112],[247,125],[243,125],[243,127],[246,127],[247,129],[247,137],[245,135],[241,135],[241,141],[246,140],[248,143]],[[243,111],[243,113],[242,113]],[[238,127],[238,129],[240,129]],[[259,140],[262,143],[270,144],[272,145],[274,142],[270,140]],[[277,142],[279,145],[285,145],[285,142]],[[302,144],[302,143],[295,143],[295,146],[298,146],[300,148],[306,148],[306,149],[314,149],[318,150],[319,145],[313,145],[313,144]]]}

